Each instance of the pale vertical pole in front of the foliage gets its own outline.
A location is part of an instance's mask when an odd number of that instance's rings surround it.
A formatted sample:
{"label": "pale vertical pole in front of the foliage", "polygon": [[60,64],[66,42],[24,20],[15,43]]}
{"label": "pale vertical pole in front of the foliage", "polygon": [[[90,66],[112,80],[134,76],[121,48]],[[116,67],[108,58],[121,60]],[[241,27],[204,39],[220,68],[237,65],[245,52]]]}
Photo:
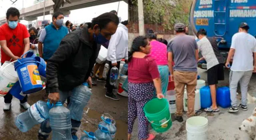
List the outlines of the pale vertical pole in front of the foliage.
{"label": "pale vertical pole in front of the foliage", "polygon": [[138,0],[138,17],[139,17],[139,35],[144,35],[144,14],[143,14],[143,1]]}

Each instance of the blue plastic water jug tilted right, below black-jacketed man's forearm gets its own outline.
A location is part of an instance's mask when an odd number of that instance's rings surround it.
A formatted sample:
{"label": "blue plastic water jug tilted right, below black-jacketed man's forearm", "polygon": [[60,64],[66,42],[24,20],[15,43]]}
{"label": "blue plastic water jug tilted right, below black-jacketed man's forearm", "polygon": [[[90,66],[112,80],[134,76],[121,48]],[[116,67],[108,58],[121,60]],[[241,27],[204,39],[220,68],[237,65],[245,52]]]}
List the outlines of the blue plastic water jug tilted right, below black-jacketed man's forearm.
{"label": "blue plastic water jug tilted right, below black-jacketed man's forearm", "polygon": [[84,107],[87,105],[92,95],[88,83],[83,83],[72,90],[68,109],[70,110],[71,119],[80,121],[83,116]]}

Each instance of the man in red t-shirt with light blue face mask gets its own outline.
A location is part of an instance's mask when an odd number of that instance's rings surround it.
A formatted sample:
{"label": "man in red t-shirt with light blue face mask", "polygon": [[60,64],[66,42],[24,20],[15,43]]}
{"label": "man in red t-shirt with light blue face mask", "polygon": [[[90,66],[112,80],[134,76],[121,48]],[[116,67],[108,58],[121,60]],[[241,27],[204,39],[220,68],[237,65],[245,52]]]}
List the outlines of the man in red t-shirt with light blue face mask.
{"label": "man in red t-shirt with light blue face mask", "polygon": [[[18,23],[20,12],[16,8],[9,8],[6,12],[7,23],[0,26],[0,46],[1,46],[1,63],[17,60],[24,52],[30,49],[29,33],[25,25]],[[1,91],[0,91],[1,94]],[[28,96],[20,100],[20,105],[24,109],[28,109],[30,105],[27,103]],[[4,111],[10,109],[12,95],[7,93],[4,96]]]}

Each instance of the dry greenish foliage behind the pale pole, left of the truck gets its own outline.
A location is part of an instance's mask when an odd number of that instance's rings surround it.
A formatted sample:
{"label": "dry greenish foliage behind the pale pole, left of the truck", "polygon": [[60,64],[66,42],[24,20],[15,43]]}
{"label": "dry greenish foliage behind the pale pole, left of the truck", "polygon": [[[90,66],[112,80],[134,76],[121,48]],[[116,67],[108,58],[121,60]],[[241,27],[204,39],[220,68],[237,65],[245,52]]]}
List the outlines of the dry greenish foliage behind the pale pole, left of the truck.
{"label": "dry greenish foliage behind the pale pole, left of the truck", "polygon": [[[163,25],[166,30],[175,23],[189,23],[189,9],[192,0],[143,0],[144,23]],[[130,21],[138,21],[138,1],[129,3]],[[137,13],[137,14],[136,14]]]}

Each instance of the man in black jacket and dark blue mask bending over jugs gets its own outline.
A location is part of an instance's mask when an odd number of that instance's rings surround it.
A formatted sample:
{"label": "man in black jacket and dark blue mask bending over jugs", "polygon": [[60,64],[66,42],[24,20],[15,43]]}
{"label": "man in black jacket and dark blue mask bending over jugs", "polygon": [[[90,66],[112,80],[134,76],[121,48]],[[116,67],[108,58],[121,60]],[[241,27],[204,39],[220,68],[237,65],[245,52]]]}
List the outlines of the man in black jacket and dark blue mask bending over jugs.
{"label": "man in black jacket and dark blue mask bending over jugs", "polygon": [[[92,19],[62,39],[60,46],[48,59],[46,78],[50,94],[50,103],[64,101],[72,94],[72,89],[84,82],[92,84],[91,71],[100,51],[100,45],[110,40],[116,32],[119,19],[115,14],[104,13]],[[77,140],[76,132],[81,124],[71,117],[71,134]],[[49,119],[42,122],[38,132],[39,140],[46,140],[51,132]]]}

